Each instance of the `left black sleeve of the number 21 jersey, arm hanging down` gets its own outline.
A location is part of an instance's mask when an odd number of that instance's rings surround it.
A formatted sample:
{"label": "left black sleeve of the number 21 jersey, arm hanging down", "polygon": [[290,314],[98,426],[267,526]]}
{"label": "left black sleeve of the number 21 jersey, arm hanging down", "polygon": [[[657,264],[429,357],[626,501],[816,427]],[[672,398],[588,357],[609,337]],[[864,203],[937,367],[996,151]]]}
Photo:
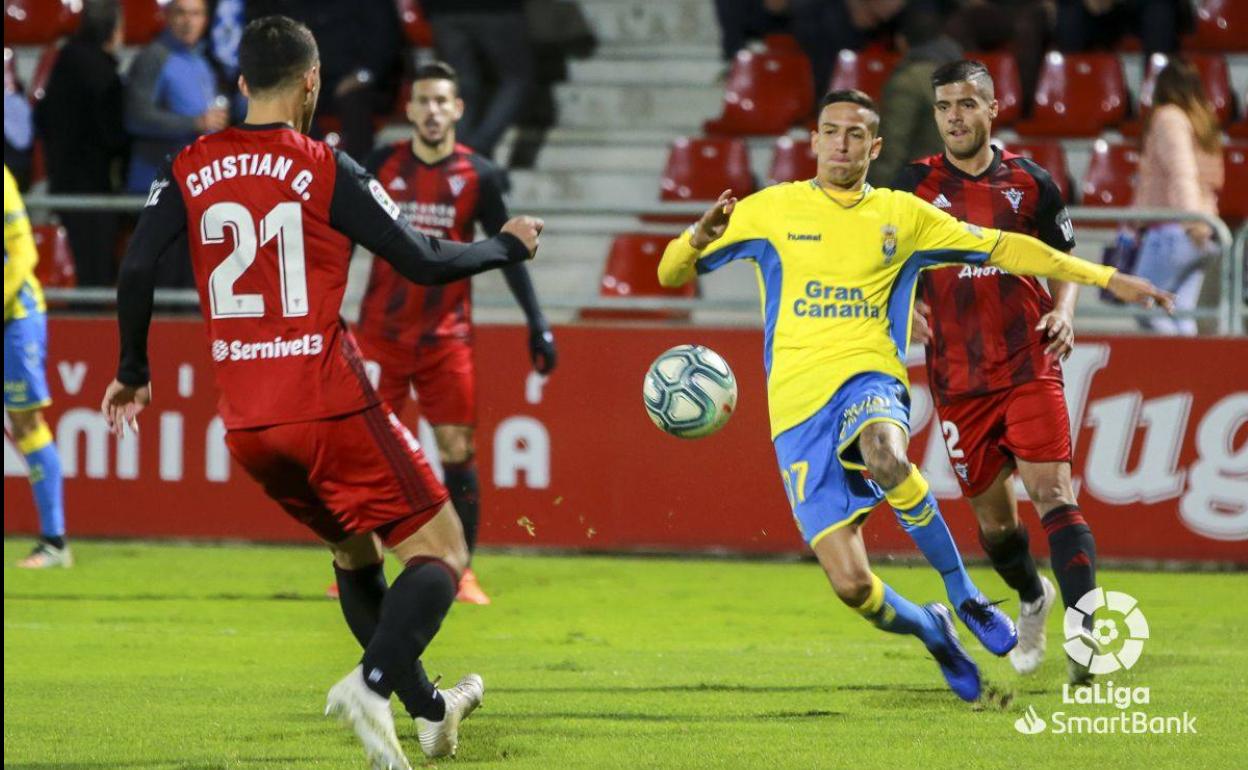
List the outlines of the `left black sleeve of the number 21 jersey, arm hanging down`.
{"label": "left black sleeve of the number 21 jersey, arm hanging down", "polygon": [[121,363],[117,379],[127,386],[151,381],[147,363],[147,329],[152,319],[156,268],[163,260],[190,260],[186,246],[186,203],[182,190],[166,165],[152,181],[147,203],[126,247],[117,276],[117,327]]}

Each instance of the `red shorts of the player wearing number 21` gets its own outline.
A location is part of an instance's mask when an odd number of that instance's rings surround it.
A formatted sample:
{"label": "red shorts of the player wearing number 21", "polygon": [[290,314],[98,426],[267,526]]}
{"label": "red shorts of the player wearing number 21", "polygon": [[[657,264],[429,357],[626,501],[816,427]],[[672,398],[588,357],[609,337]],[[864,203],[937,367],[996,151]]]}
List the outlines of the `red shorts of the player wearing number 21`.
{"label": "red shorts of the player wearing number 21", "polygon": [[329,543],[376,532],[396,545],[448,498],[421,446],[383,406],[228,431],[226,446],[268,497]]}

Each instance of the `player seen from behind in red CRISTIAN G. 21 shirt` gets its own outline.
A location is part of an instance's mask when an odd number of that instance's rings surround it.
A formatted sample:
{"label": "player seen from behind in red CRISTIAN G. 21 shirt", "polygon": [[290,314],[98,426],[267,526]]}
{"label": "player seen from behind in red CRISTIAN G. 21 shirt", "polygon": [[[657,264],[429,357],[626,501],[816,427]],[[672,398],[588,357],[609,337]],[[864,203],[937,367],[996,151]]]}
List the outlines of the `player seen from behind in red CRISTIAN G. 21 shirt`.
{"label": "player seen from behind in red CRISTIAN G. 21 shirt", "polygon": [[[321,90],[308,29],[266,16],[243,30],[241,126],[200,137],[157,176],[117,286],[121,363],[102,409],[137,429],[151,401],[147,329],[162,260],[190,260],[207,323],[226,446],[333,553],[342,609],[363,656],[328,695],[373,766],[408,769],[391,695],[428,756],[454,754],[479,705],[475,674],[438,690],[419,661],[468,564],[459,518],[419,446],[379,402],[338,316],[352,242],[408,280],[447,283],[522,262],[539,220],[474,245],[414,232],[377,180],[306,136]],[[211,515],[211,512],[205,512]],[[387,588],[384,544],[403,563]]]}

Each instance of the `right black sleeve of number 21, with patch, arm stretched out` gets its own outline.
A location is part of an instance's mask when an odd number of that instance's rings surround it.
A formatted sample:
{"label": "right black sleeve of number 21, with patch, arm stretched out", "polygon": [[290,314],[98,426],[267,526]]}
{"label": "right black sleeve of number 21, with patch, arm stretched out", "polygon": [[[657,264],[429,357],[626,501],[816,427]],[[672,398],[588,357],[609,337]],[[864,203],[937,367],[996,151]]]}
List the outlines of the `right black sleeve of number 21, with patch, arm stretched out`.
{"label": "right black sleeve of number 21, with patch, arm stretched out", "polygon": [[451,283],[479,272],[523,262],[529,250],[510,233],[477,243],[454,243],[417,232],[399,217],[386,188],[344,152],[334,151],[337,173],[329,225],[386,260],[414,283]]}

